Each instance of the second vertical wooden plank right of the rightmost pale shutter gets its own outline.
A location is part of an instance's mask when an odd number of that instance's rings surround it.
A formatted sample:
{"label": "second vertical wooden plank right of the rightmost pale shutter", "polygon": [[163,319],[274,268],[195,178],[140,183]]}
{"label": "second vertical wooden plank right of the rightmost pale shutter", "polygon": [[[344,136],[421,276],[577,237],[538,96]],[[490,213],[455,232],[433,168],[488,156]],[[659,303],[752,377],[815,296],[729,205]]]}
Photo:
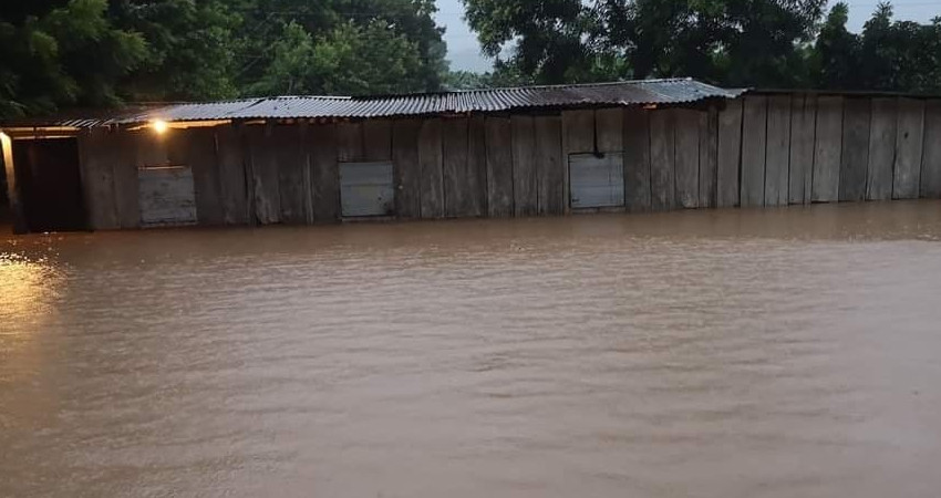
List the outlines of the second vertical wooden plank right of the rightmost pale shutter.
{"label": "second vertical wooden plank right of the rightmost pale shutter", "polygon": [[650,114],[650,190],[651,209],[676,207],[675,188],[675,120],[670,110]]}

